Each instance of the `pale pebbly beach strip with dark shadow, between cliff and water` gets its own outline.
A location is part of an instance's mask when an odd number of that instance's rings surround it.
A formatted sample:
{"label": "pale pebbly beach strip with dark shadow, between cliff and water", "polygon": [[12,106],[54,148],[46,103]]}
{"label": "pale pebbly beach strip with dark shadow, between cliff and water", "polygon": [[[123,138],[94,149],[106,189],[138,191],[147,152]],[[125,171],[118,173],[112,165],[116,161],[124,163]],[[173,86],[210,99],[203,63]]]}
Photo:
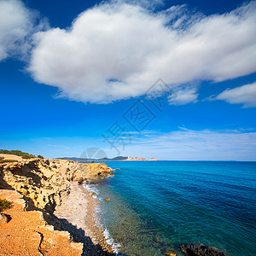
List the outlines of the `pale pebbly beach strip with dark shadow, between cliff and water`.
{"label": "pale pebbly beach strip with dark shadow, between cliff and water", "polygon": [[84,243],[84,255],[115,255],[106,242],[103,230],[96,226],[98,202],[79,183],[71,184],[71,193],[55,208],[63,228],[69,231],[74,241]]}

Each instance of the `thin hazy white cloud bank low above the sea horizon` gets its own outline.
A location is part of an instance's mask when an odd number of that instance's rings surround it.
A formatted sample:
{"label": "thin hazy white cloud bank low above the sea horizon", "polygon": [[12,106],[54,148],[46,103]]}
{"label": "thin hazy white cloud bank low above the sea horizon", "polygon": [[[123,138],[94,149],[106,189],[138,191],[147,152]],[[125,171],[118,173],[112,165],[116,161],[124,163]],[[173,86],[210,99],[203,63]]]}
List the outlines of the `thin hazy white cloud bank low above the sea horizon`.
{"label": "thin hazy white cloud bank low above the sea horizon", "polygon": [[[182,131],[132,139],[124,155],[160,160],[256,160],[255,131]],[[106,149],[107,150],[107,149]],[[142,155],[143,152],[143,155]]]}

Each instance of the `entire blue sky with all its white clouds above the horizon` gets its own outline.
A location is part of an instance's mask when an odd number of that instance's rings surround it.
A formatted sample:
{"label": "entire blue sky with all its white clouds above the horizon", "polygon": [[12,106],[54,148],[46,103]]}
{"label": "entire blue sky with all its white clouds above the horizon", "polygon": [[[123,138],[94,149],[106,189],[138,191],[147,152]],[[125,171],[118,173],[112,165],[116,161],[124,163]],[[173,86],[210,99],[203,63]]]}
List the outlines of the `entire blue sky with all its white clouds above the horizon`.
{"label": "entire blue sky with all its white clouds above the horizon", "polygon": [[208,2],[0,0],[0,148],[256,160],[256,3]]}

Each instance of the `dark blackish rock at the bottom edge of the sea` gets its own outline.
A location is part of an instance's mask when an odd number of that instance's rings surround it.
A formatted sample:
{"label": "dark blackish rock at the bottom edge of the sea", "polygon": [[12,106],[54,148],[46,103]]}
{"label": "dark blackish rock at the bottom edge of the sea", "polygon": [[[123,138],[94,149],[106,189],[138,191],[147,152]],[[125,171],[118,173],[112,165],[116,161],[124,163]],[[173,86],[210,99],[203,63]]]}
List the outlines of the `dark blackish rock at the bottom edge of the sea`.
{"label": "dark blackish rock at the bottom edge of the sea", "polygon": [[206,247],[200,244],[183,244],[181,250],[188,256],[226,256],[226,253],[215,247]]}

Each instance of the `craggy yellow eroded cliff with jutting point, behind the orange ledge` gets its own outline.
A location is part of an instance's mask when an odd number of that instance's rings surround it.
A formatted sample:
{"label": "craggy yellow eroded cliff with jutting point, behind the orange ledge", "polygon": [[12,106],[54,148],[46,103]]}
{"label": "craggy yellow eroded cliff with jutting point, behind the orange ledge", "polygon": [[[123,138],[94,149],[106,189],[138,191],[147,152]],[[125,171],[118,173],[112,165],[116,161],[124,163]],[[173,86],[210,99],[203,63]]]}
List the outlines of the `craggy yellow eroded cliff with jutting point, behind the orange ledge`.
{"label": "craggy yellow eroded cliff with jutting point, behind the orange ledge", "polygon": [[68,195],[69,183],[107,177],[113,169],[102,163],[71,160],[26,160],[0,165],[0,189],[15,189],[30,198],[35,207],[54,212]]}

